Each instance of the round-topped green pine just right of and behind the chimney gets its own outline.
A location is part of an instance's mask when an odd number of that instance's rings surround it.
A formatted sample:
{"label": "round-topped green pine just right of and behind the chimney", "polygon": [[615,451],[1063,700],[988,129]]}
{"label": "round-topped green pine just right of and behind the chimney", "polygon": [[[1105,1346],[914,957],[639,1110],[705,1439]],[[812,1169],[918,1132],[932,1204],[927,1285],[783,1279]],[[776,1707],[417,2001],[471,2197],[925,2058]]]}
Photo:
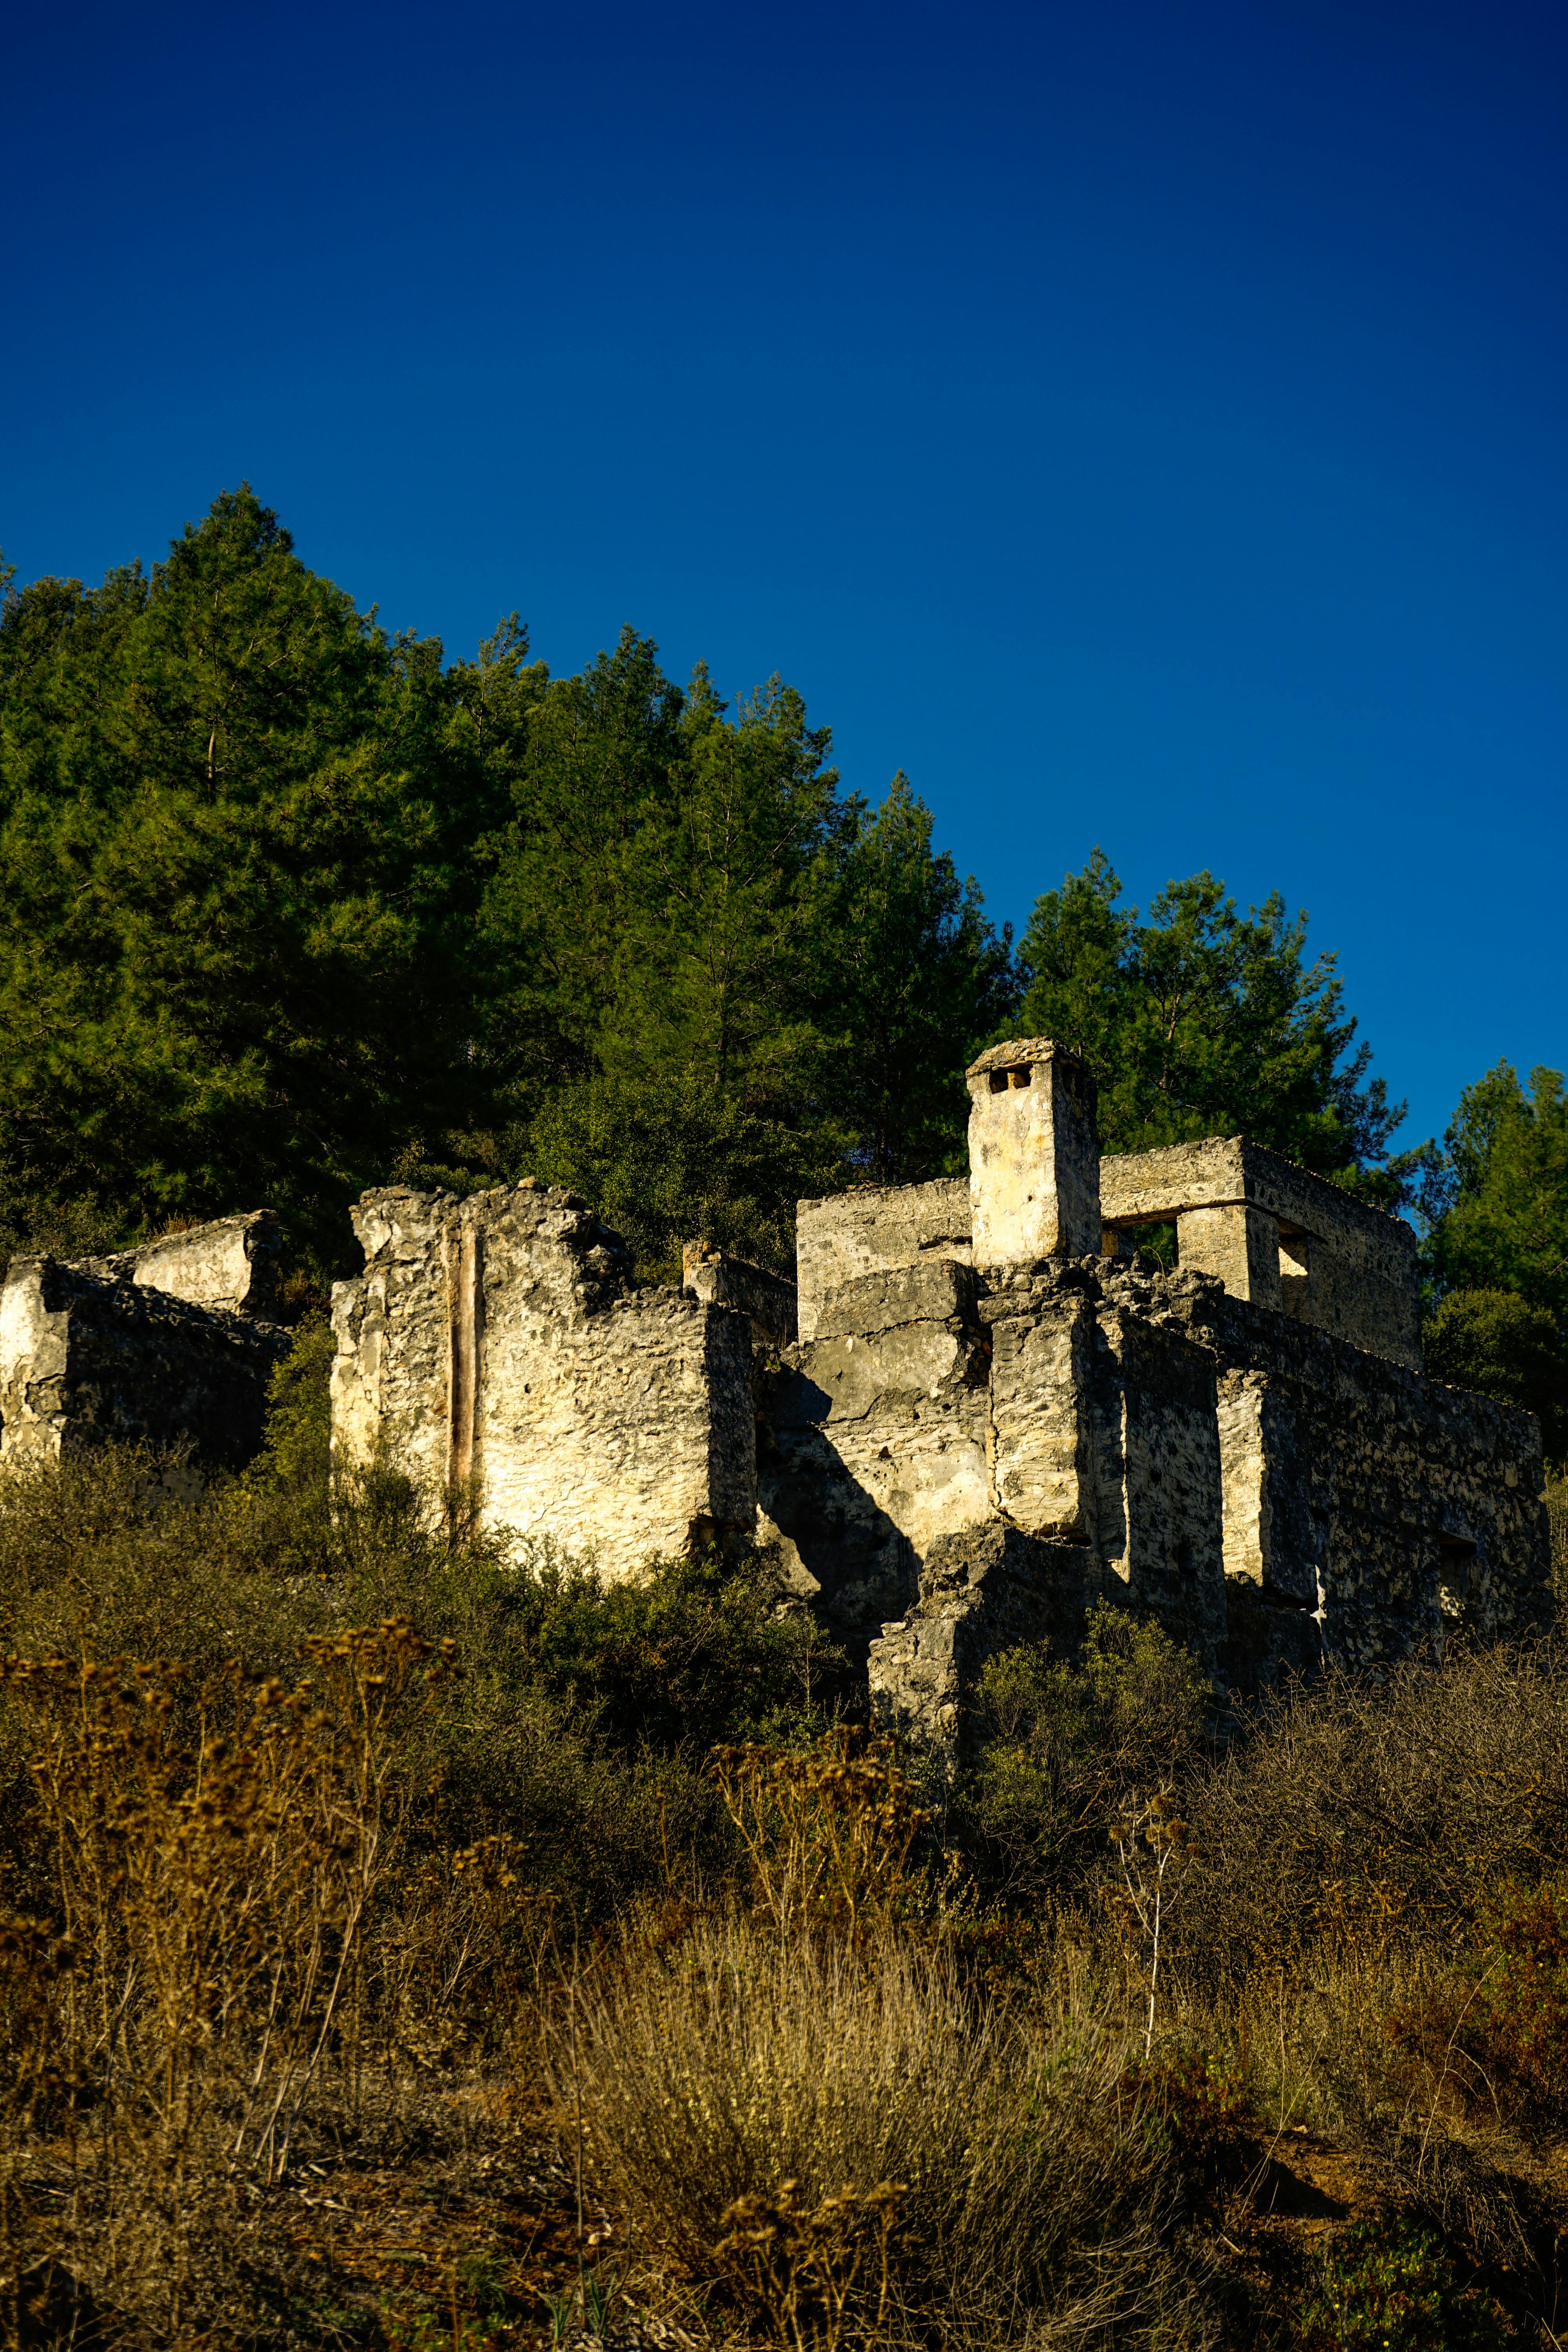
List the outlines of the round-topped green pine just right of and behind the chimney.
{"label": "round-topped green pine just right of and behind the chimney", "polygon": [[1086,1054],[1107,1152],[1248,1134],[1392,1207],[1410,1169],[1387,1160],[1403,1117],[1371,1049],[1354,1047],[1335,957],[1305,962],[1307,917],[1274,891],[1239,915],[1208,873],[1117,906],[1100,849],[1034,903],[1018,962],[1018,1028]]}

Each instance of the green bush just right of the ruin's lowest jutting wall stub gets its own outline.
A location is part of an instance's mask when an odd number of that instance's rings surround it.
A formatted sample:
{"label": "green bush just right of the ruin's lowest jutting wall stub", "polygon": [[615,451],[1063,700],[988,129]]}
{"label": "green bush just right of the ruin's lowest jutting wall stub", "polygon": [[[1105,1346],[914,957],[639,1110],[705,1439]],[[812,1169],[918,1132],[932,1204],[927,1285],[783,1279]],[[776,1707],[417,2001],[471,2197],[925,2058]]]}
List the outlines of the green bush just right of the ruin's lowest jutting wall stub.
{"label": "green bush just right of the ruin's lowest jutting wall stub", "polygon": [[1107,1602],[1088,1613],[1077,1665],[1044,1642],[987,1661],[978,1759],[959,1780],[957,1813],[997,1889],[1081,1884],[1121,1797],[1197,1757],[1211,1703],[1197,1658]]}

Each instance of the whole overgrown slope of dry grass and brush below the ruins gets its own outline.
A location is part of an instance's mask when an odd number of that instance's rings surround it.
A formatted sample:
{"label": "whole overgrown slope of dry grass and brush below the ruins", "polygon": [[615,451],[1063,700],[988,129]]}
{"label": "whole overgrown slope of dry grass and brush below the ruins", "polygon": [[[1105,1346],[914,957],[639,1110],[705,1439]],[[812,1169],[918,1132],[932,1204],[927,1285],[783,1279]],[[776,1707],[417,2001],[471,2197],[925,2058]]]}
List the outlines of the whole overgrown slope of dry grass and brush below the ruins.
{"label": "whole overgrown slope of dry grass and brush below the ruins", "polygon": [[[1098,1679],[994,1682],[954,1856],[961,1804],[788,1710],[762,1588],[155,1472],[0,1501],[0,2338],[484,2352],[630,2298],[715,2347],[1300,2352],[1363,2213],[1568,2333],[1568,1924],[1486,1973],[1568,1839],[1549,1644],[1213,1757],[1190,1661],[1107,1625]],[[1150,1771],[1197,1858],[1145,2063],[1105,1889]],[[1500,2051],[1528,2100],[1476,2096]]]}

